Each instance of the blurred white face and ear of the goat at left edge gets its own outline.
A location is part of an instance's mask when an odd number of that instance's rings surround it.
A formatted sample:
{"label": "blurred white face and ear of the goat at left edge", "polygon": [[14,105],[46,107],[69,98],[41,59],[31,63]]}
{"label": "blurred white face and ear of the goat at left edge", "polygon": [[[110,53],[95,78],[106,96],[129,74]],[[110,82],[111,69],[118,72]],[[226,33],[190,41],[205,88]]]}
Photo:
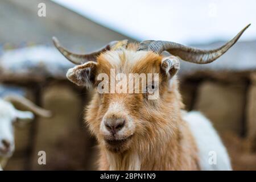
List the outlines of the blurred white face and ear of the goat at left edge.
{"label": "blurred white face and ear of the goat at left edge", "polygon": [[10,157],[14,152],[14,122],[17,118],[33,118],[30,111],[19,111],[0,99],[0,156]]}

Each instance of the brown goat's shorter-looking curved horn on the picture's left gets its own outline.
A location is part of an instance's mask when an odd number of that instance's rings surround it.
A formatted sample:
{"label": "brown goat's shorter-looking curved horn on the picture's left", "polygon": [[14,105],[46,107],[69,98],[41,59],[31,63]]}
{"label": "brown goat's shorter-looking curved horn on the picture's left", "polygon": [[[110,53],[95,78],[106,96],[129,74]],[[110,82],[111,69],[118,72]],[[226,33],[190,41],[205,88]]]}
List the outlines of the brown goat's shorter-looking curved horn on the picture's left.
{"label": "brown goat's shorter-looking curved horn on the picture's left", "polygon": [[63,56],[65,56],[69,61],[71,61],[74,64],[83,64],[88,61],[96,61],[96,57],[100,55],[101,52],[109,51],[113,46],[115,46],[115,44],[118,43],[118,41],[113,41],[107,44],[106,46],[102,47],[98,51],[95,51],[89,54],[80,55],[65,49],[63,46],[60,45],[59,40],[54,36],[52,40],[53,40],[53,44],[60,51],[60,53],[62,53]]}

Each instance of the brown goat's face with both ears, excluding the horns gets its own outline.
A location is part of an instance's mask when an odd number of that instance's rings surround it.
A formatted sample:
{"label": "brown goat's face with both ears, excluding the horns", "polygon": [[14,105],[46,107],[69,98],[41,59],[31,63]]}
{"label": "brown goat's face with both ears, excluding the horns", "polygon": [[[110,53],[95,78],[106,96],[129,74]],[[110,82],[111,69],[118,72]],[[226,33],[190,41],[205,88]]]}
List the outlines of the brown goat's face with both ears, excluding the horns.
{"label": "brown goat's face with both ears, excluding the horns", "polygon": [[161,100],[178,69],[176,57],[122,50],[101,54],[97,63],[71,68],[67,77],[78,85],[96,88],[86,120],[102,145],[123,152],[134,141],[149,139],[149,133],[166,127],[156,119],[162,117]]}

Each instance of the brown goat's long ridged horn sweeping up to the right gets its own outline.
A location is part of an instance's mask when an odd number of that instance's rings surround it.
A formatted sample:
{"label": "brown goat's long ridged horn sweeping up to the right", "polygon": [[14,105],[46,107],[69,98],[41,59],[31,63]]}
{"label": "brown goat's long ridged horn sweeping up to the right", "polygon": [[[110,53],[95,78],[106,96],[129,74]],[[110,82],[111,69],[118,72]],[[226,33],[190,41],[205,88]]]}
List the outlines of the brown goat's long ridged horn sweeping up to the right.
{"label": "brown goat's long ridged horn sweeping up to the right", "polygon": [[168,51],[174,56],[179,56],[184,61],[188,61],[191,63],[197,64],[207,64],[216,60],[218,57],[223,55],[230,47],[232,47],[243,32],[248,28],[250,24],[248,24],[243,30],[241,30],[232,40],[226,43],[224,46],[212,49],[212,50],[201,50],[193,47],[183,46],[181,44],[177,44],[174,42],[168,41],[154,41],[154,40],[146,40],[140,43],[139,49],[146,51],[154,51],[156,53],[162,53],[163,51]]}

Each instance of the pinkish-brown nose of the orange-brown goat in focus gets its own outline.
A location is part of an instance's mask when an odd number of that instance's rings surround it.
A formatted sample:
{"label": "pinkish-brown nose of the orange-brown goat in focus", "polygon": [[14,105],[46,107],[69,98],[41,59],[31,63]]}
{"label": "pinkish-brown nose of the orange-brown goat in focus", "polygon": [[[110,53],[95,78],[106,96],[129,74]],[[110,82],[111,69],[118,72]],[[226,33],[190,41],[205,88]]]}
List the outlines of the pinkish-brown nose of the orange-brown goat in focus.
{"label": "pinkish-brown nose of the orange-brown goat in focus", "polygon": [[125,119],[106,119],[105,120],[106,129],[108,129],[112,134],[117,133],[119,130],[125,126]]}

